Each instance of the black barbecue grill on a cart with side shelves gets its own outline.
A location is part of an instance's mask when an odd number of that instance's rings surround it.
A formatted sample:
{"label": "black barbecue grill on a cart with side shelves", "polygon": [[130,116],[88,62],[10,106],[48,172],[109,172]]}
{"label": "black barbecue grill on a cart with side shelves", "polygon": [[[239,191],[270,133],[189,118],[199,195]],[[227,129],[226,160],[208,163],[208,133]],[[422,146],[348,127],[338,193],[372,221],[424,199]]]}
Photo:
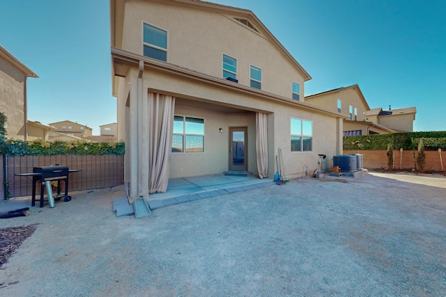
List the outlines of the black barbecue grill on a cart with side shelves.
{"label": "black barbecue grill on a cart with side shelves", "polygon": [[[43,198],[45,191],[45,182],[57,181],[57,195],[54,196],[54,200],[61,200],[68,202],[71,200],[71,196],[68,195],[68,174],[71,172],[77,172],[80,170],[69,170],[68,166],[40,166],[34,167],[32,173],[19,173],[16,175],[24,177],[33,177],[33,195],[31,205],[36,205],[36,200],[40,201],[40,207],[43,207],[43,202],[48,201]],[[65,193],[61,194],[61,182],[65,183]],[[40,182],[40,199],[36,199],[36,184]],[[48,196],[52,193],[48,193]]]}

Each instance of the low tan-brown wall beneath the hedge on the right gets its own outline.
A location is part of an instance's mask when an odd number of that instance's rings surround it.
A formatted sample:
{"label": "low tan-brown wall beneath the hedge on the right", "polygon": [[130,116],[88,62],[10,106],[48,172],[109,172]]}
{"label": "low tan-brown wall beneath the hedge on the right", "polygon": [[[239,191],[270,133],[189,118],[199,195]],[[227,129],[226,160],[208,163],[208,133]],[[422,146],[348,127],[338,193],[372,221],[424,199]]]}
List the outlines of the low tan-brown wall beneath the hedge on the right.
{"label": "low tan-brown wall beneath the hedge on the right", "polygon": [[[344,154],[362,154],[364,161],[364,168],[388,168],[387,165],[387,150],[344,150]],[[418,152],[411,150],[403,150],[402,154],[400,150],[393,151],[393,169],[415,169],[415,158],[418,156]],[[446,152],[438,151],[424,151],[425,155],[425,171],[444,171],[446,169]],[[443,169],[442,169],[443,161]]]}

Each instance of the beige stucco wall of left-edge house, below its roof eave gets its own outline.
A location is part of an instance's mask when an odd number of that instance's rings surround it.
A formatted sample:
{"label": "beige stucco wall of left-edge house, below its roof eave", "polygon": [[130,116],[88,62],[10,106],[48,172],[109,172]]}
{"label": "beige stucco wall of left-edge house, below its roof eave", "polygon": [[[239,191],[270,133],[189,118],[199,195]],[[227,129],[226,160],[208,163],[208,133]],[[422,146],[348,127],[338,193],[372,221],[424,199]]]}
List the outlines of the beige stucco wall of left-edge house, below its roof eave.
{"label": "beige stucco wall of left-edge house, below its roof eave", "polygon": [[0,57],[0,111],[7,117],[7,138],[24,139],[25,82],[25,74]]}

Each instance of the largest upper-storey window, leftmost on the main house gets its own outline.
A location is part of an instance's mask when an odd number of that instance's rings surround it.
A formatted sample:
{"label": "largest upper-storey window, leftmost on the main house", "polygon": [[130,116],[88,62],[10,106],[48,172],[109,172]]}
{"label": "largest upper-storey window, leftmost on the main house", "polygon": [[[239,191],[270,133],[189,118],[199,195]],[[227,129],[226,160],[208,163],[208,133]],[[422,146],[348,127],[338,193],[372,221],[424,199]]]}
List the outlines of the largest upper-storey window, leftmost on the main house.
{"label": "largest upper-storey window, leftmost on the main house", "polygon": [[149,58],[167,61],[167,31],[144,23],[143,54]]}

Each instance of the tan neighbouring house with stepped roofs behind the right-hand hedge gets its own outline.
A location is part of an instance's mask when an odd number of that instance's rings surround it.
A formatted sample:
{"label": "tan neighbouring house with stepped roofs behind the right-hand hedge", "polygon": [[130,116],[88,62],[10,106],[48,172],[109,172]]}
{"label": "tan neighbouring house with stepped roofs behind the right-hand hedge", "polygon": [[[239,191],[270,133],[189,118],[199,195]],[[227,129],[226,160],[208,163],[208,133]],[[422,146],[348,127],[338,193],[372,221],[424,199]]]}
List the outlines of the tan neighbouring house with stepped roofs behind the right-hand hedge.
{"label": "tan neighbouring house with stepped roofs behind the right-hand hedge", "polygon": [[413,131],[415,107],[392,112],[370,109],[357,84],[305,96],[305,102],[345,115],[344,136]]}

